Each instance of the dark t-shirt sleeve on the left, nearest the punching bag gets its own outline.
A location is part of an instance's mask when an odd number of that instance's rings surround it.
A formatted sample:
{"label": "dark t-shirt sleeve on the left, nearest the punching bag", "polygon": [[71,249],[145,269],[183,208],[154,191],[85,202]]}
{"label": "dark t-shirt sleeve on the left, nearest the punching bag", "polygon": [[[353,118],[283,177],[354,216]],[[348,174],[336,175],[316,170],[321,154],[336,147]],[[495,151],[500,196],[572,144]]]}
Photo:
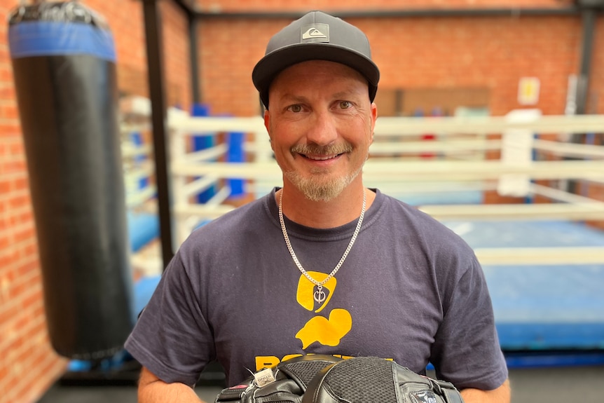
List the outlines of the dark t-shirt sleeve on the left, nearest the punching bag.
{"label": "dark t-shirt sleeve on the left, nearest the punching bag", "polygon": [[194,385],[214,359],[210,327],[179,253],[164,271],[125,348],[167,383]]}

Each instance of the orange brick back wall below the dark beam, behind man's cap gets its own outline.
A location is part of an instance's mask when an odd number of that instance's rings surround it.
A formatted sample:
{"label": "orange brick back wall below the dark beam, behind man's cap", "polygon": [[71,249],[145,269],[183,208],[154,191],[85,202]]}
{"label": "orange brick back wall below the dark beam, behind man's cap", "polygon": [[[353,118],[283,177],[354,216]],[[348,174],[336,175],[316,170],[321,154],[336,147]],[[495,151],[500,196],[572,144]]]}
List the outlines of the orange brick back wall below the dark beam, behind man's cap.
{"label": "orange brick back wall below the dark beam, behind man's cap", "polygon": [[[381,70],[380,88],[488,88],[493,115],[521,107],[517,92],[523,76],[540,78],[535,107],[544,114],[563,114],[568,76],[579,69],[581,21],[575,16],[348,20],[369,36]],[[199,41],[204,102],[220,112],[256,114],[252,68],[266,41],[287,22],[203,21]],[[604,46],[603,30],[598,31],[599,48]],[[596,86],[596,74],[602,74],[599,57],[594,60],[592,93],[602,87],[601,78]]]}

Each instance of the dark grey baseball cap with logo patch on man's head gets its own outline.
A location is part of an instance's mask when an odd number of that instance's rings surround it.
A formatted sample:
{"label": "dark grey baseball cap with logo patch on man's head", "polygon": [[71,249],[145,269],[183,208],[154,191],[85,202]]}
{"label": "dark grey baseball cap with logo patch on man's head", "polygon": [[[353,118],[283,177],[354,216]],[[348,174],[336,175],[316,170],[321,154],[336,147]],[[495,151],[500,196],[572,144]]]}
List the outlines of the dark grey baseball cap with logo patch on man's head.
{"label": "dark grey baseball cap with logo patch on man's head", "polygon": [[252,81],[268,108],[268,88],[287,67],[306,60],[328,60],[359,71],[369,83],[369,99],[378,90],[380,70],[371,60],[369,39],[354,25],[321,11],[311,11],[277,32],[252,71]]}

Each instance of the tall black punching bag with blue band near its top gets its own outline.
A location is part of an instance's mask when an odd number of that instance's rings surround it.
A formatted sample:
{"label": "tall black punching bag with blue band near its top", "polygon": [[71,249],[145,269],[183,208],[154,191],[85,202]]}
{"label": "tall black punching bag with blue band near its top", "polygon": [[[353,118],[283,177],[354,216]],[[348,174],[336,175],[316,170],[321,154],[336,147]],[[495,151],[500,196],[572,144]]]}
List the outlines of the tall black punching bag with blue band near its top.
{"label": "tall black punching bag with blue band near its top", "polygon": [[113,38],[75,1],[21,6],[8,31],[50,342],[102,360],[133,325]]}

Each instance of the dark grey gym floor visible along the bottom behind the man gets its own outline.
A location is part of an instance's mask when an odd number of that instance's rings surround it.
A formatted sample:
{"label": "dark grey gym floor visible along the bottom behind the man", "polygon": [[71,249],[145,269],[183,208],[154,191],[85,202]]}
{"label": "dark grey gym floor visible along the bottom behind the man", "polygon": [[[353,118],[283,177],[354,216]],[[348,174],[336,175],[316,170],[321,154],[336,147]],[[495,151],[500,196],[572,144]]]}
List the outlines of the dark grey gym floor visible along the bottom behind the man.
{"label": "dark grey gym floor visible along the bottom behind the man", "polygon": [[[512,403],[602,403],[604,365],[511,369]],[[196,388],[208,403],[221,390],[215,386]],[[53,385],[38,403],[136,403],[137,392],[129,386]]]}

